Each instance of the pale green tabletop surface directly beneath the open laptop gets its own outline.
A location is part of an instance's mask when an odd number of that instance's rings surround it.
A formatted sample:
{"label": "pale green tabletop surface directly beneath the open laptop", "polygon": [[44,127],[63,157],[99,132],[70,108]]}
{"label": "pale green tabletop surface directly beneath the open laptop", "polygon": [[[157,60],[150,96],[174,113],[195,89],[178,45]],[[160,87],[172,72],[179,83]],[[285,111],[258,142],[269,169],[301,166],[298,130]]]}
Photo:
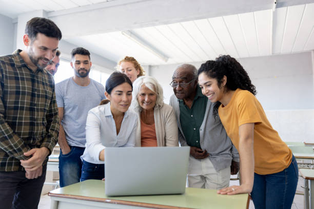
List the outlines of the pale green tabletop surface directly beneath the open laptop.
{"label": "pale green tabletop surface directly beneath the open laptop", "polygon": [[[49,196],[85,199],[107,203],[118,203],[155,208],[246,208],[248,194],[219,195],[216,190],[186,188],[183,195],[146,195],[108,197],[105,195],[105,181],[86,180],[53,190]],[[125,202],[127,201],[127,202]],[[136,204],[137,203],[137,204]],[[140,203],[140,204],[139,204]],[[142,204],[141,204],[142,203]],[[144,203],[144,204],[143,204]],[[149,204],[149,205],[148,205]],[[155,204],[158,206],[154,206]],[[172,207],[171,207],[172,206]]]}

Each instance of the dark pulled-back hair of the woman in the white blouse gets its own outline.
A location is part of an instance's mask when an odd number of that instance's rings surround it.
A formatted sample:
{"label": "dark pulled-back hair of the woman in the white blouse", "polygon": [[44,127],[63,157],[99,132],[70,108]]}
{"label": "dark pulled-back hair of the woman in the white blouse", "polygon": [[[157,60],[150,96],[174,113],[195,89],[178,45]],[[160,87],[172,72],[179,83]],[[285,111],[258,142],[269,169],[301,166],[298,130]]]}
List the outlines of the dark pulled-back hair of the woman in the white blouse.
{"label": "dark pulled-back hair of the woman in the white blouse", "polygon": [[[119,71],[114,71],[106,80],[106,92],[108,94],[111,94],[112,89],[114,89],[115,87],[125,82],[129,83],[133,91],[132,81],[130,80],[130,78],[124,73],[121,73]],[[108,102],[109,102],[108,99],[104,99],[100,102],[99,105],[106,105],[106,103]]]}

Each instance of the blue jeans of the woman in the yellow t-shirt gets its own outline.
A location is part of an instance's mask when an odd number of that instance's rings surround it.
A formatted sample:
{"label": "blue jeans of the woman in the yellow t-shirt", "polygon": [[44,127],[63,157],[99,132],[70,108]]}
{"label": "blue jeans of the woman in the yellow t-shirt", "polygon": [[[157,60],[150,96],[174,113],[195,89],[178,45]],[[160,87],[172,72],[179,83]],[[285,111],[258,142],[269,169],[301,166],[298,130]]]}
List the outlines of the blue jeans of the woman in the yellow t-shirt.
{"label": "blue jeans of the woman in the yellow t-shirt", "polygon": [[256,209],[291,208],[298,184],[298,164],[295,156],[282,172],[259,175],[254,173],[251,197]]}

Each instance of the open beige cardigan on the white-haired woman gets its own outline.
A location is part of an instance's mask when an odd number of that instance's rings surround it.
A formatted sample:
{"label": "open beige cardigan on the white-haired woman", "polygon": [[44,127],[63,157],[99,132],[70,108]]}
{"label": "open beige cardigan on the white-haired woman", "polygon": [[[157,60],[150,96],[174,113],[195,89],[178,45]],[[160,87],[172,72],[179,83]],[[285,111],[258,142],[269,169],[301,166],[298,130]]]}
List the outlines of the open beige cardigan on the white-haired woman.
{"label": "open beige cardigan on the white-haired woman", "polygon": [[[141,112],[138,112],[135,147],[141,147]],[[158,147],[178,147],[178,125],[171,106],[164,105],[154,110],[155,130]]]}

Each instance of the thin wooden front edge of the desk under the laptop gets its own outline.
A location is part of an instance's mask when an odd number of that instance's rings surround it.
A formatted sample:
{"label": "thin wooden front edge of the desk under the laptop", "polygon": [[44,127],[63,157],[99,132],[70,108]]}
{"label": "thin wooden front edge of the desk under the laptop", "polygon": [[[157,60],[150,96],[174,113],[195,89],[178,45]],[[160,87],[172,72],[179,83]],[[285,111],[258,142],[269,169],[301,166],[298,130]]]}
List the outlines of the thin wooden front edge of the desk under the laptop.
{"label": "thin wooden front edge of the desk under the laptop", "polygon": [[[96,202],[106,202],[112,204],[123,204],[123,205],[131,205],[131,206],[141,206],[141,207],[150,207],[150,208],[161,208],[161,209],[190,209],[189,207],[176,207],[170,205],[158,205],[158,204],[151,204],[151,203],[144,203],[144,202],[131,202],[125,200],[114,200],[108,198],[97,198],[97,197],[85,197],[85,196],[78,196],[78,195],[64,195],[64,194],[55,194],[55,193],[48,193],[48,196],[51,197],[64,197],[64,198],[71,198],[71,199],[78,199],[78,200],[90,200]],[[249,199],[248,199],[249,201]]]}

